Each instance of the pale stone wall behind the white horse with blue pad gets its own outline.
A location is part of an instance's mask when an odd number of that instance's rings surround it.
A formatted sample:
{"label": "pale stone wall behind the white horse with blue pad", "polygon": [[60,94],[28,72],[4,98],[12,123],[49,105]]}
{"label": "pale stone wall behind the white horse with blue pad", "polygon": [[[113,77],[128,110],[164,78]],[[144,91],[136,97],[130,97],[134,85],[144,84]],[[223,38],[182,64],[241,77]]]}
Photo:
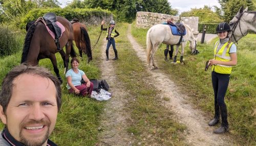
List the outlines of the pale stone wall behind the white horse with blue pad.
{"label": "pale stone wall behind the white horse with blue pad", "polygon": [[152,12],[137,12],[136,25],[138,28],[150,28],[154,25],[167,21],[170,17],[173,17],[175,22],[180,21],[187,24],[191,29],[193,29],[194,34],[198,34],[198,17],[181,17],[180,20],[179,16]]}

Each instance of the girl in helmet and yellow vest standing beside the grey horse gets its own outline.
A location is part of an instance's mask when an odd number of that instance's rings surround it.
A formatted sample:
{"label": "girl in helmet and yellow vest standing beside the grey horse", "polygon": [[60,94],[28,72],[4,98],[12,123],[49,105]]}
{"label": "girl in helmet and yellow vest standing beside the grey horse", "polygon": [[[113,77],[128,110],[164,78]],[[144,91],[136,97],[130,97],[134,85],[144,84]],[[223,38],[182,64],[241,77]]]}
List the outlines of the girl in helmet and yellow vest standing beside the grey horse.
{"label": "girl in helmet and yellow vest standing beside the grey horse", "polygon": [[224,96],[227,91],[232,66],[237,65],[237,46],[231,42],[228,34],[230,27],[228,23],[222,22],[216,28],[216,33],[220,38],[214,45],[214,59],[209,60],[211,67],[211,81],[214,88],[215,116],[209,122],[209,126],[219,123],[221,114],[221,127],[214,131],[222,134],[228,131],[227,106]]}

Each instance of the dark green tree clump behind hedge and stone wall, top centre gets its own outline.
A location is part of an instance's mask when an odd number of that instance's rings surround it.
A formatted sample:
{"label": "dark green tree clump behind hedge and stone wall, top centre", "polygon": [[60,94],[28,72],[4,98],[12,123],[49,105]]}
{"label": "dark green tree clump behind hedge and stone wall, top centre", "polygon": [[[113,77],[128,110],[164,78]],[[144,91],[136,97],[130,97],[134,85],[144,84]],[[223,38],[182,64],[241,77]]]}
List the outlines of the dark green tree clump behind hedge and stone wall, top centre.
{"label": "dark green tree clump behind hedge and stone wall, top centre", "polygon": [[101,8],[112,11],[120,20],[132,22],[138,11],[176,15],[167,0],[84,0],[73,1],[71,8]]}

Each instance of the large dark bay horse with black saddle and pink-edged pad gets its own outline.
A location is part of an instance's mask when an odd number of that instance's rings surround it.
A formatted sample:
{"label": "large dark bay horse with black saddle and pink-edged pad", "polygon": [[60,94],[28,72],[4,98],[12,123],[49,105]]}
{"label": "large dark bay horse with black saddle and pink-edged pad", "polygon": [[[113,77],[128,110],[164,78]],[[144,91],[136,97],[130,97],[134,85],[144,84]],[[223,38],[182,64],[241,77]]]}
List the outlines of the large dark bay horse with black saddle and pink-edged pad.
{"label": "large dark bay horse with black saddle and pink-edged pad", "polygon": [[60,52],[62,59],[65,60],[64,66],[66,71],[68,70],[69,55],[76,57],[72,41],[73,27],[66,18],[56,16],[57,21],[65,27],[65,32],[59,39],[60,48],[66,46],[66,54],[63,50],[57,50],[57,46],[52,36],[48,33],[48,30],[44,23],[38,21],[33,23],[26,34],[25,43],[23,47],[21,63],[26,62],[30,65],[38,65],[40,59],[49,58],[53,64],[54,72],[62,83],[61,77],[59,76],[59,69],[57,67],[57,60],[55,53]]}

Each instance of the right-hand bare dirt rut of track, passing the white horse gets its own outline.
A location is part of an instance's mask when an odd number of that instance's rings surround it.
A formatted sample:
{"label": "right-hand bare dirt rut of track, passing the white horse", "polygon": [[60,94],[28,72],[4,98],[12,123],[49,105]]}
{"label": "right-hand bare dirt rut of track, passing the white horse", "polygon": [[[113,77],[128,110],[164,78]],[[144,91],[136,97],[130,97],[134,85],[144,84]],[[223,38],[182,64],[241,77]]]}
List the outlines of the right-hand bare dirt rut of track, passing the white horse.
{"label": "right-hand bare dirt rut of track, passing the white horse", "polygon": [[[146,64],[146,52],[132,37],[131,25],[129,25],[127,37],[131,41],[137,56]],[[193,108],[193,105],[188,103],[189,97],[179,91],[175,83],[170,80],[170,75],[167,76],[161,69],[146,71],[150,73],[152,79],[148,82],[153,85],[157,83],[155,87],[161,91],[159,96],[162,99],[170,99],[169,101],[163,100],[162,104],[175,113],[180,123],[187,126],[185,137],[188,145],[234,145],[231,143],[232,140],[229,134],[217,135],[212,133],[218,127],[208,126],[210,119],[204,117],[202,111]]]}

